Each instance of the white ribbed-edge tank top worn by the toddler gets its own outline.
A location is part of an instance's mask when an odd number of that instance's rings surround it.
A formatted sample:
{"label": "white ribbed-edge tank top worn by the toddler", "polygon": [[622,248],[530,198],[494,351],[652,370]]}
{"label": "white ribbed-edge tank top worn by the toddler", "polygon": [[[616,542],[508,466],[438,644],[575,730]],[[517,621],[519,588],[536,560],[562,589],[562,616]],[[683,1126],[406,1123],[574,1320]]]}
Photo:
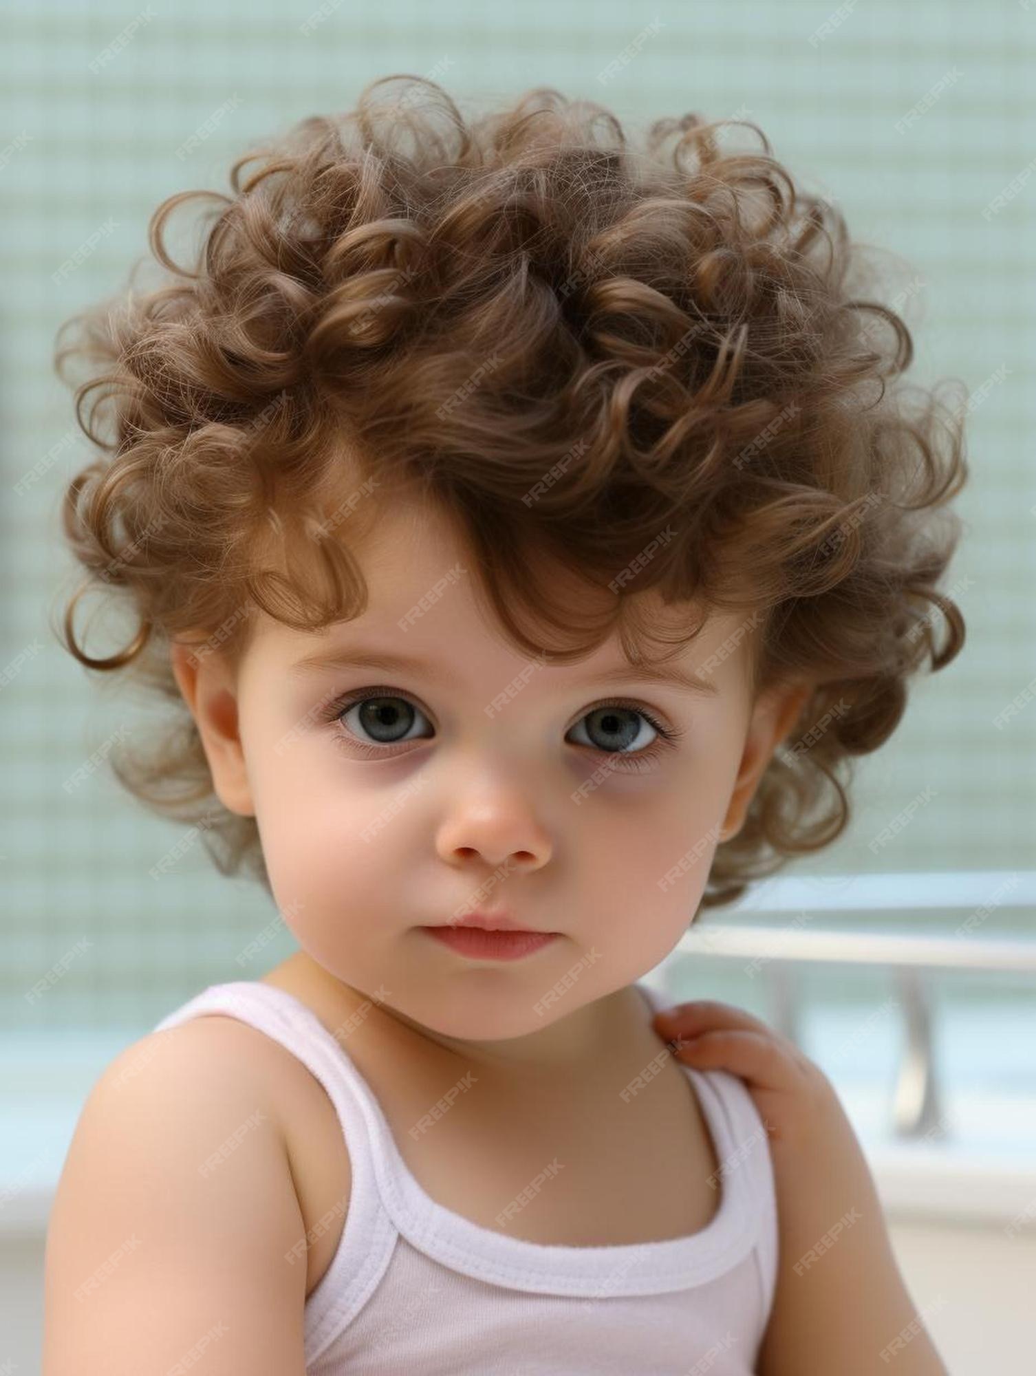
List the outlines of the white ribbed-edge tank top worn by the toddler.
{"label": "white ribbed-edge tank top worn by the toddler", "polygon": [[307,1376],[754,1372],[776,1285],[777,1214],[766,1130],[736,1076],[678,1062],[720,1163],[720,1207],[706,1227],[660,1243],[546,1247],[425,1194],[370,1086],[293,995],[249,980],[213,984],[154,1031],[202,1013],[279,1042],[338,1115],[352,1190],[338,1249],[305,1300]]}

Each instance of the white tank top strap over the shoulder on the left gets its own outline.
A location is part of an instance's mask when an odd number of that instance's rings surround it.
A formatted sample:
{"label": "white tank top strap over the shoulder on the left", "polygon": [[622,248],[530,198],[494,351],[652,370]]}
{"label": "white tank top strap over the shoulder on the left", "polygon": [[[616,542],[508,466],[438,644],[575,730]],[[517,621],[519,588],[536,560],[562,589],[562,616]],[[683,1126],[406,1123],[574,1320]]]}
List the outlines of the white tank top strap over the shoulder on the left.
{"label": "white tank top strap over the shoulder on the left", "polygon": [[[329,1276],[322,1277],[307,1299],[305,1347],[311,1358],[363,1309],[392,1258],[398,1230],[378,1190],[378,1172],[391,1171],[395,1159],[385,1143],[388,1127],[336,1038],[285,989],[250,980],[213,984],[164,1017],[153,1031],[211,1013],[248,1022],[290,1051],[323,1086],[338,1116],[352,1183],[348,1200],[340,1201],[345,1223],[334,1258],[334,1284],[325,1284]],[[360,1009],[355,1017],[362,1015]],[[340,1031],[347,1032],[348,1025]]]}

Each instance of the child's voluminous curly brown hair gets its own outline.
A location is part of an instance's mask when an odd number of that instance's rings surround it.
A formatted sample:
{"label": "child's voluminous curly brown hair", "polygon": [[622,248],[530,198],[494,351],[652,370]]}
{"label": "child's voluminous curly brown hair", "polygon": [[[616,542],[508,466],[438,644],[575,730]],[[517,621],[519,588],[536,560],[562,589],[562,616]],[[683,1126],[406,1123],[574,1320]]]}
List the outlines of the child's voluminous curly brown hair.
{"label": "child's voluminous curly brown hair", "polygon": [[[764,151],[721,150],[724,125]],[[238,158],[233,197],[165,200],[149,241],[172,281],[59,330],[61,345],[80,326],[55,367],[91,365],[76,414],[103,455],[63,494],[87,577],[58,634],[168,699],[155,749],[120,747],[113,768],[201,823],[223,874],[270,892],[255,819],[215,798],[171,643],[233,662],[255,608],[308,630],[356,615],[374,488],[416,487],[455,519],[532,655],[579,658],[618,626],[632,658],[652,633],[634,594],[655,588],[748,616],[754,692],[809,685],[798,743],[717,846],[706,905],[842,832],[852,757],[893,732],[925,656],[941,669],[963,645],[936,590],[960,533],[936,508],[966,479],[962,411],[887,385],[911,334],[853,294],[842,215],[754,124],[688,114],[644,142],[552,88],[465,120],[438,84],[384,77]],[[220,204],[177,267],[165,222],[199,195]],[[614,593],[605,625],[571,623],[549,561]],[[105,659],[73,629],[100,585],[139,622]]]}

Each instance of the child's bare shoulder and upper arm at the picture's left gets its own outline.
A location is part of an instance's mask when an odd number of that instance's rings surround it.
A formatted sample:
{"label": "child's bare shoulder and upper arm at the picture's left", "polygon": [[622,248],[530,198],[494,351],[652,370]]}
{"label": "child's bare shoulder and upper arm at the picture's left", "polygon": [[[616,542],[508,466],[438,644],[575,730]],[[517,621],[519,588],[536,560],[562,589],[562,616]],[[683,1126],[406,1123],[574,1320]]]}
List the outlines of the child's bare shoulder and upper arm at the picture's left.
{"label": "child's bare shoulder and upper arm at the picture's left", "polygon": [[[150,1032],[94,1084],[47,1229],[44,1376],[303,1376],[305,1229],[270,1038]],[[261,1200],[261,1207],[256,1201]]]}

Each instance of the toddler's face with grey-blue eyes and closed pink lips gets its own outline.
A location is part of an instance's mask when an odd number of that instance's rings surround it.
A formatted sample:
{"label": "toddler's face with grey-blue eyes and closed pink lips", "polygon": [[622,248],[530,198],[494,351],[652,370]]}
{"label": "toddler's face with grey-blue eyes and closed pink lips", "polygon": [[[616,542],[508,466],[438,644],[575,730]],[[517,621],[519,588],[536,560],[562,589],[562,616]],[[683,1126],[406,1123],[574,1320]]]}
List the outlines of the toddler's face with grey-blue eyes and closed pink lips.
{"label": "toddler's face with grey-blue eyes and closed pink lips", "polygon": [[[256,816],[299,944],[352,989],[464,1040],[520,1038],[641,978],[687,930],[721,828],[740,826],[801,698],[753,710],[748,637],[731,615],[673,660],[709,662],[714,694],[590,682],[623,665],[618,637],[581,663],[530,662],[483,621],[469,557],[433,510],[395,505],[359,559],[370,601],[352,622],[314,636],[267,618],[237,677],[208,655],[195,684],[177,662],[216,791]],[[359,647],[422,667],[299,667]],[[404,702],[321,717],[363,691]],[[609,754],[615,718],[587,718],[608,699],[682,736],[667,746],[622,714],[627,753]],[[497,907],[560,940],[476,962],[421,930]]]}

